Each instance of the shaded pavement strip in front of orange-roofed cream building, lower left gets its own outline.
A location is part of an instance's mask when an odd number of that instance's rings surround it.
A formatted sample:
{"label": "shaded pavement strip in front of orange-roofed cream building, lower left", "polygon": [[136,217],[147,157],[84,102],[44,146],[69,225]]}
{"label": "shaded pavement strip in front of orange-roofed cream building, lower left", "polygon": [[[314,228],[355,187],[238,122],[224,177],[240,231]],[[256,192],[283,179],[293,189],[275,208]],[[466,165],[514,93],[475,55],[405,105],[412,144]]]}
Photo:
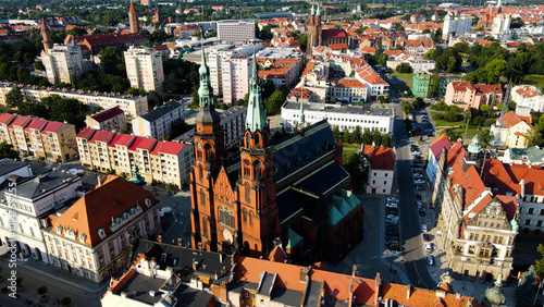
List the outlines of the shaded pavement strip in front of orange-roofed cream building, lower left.
{"label": "shaded pavement strip in front of orange-roofed cream building, lower left", "polygon": [[[3,263],[8,263],[5,257],[1,257],[0,261]],[[40,274],[49,279],[53,279],[58,282],[64,283],[69,286],[75,287],[86,293],[97,294],[108,286],[108,282],[98,284],[89,280],[86,280],[84,278],[74,275],[65,270],[62,270],[61,268],[49,266],[44,262],[36,261],[34,259],[28,259],[27,261],[17,260],[17,269],[20,268],[32,271],[34,273]]]}

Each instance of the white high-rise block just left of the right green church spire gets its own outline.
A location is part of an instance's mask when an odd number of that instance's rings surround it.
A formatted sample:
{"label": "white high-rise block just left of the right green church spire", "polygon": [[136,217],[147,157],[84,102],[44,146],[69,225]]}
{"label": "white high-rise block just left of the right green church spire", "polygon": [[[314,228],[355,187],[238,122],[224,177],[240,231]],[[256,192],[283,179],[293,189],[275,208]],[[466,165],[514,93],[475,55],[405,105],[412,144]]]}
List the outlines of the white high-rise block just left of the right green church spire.
{"label": "white high-rise block just left of the right green church spire", "polygon": [[221,64],[223,102],[235,105],[249,93],[249,77],[254,67],[250,57],[228,56]]}

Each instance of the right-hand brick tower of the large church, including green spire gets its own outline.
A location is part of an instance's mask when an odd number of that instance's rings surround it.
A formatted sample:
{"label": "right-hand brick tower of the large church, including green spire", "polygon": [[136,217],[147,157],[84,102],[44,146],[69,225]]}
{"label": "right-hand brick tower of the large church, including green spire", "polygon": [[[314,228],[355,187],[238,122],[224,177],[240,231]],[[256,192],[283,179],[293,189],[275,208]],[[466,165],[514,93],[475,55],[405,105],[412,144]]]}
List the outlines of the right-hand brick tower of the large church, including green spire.
{"label": "right-hand brick tower of the large church, including green spire", "polygon": [[257,74],[255,52],[246,127],[240,144],[242,177],[237,183],[242,212],[242,242],[243,251],[259,257],[270,251],[273,240],[280,235],[281,229],[275,199],[273,146],[270,143],[270,127],[265,121],[262,82]]}

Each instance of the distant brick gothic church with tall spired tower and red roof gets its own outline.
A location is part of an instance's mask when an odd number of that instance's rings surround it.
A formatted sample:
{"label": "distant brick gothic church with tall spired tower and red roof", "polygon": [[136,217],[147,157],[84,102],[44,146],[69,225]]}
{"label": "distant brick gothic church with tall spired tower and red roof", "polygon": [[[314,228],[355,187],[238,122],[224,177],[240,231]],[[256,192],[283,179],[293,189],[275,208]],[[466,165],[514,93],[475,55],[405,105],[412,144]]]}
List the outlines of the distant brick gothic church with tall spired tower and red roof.
{"label": "distant brick gothic church with tall spired tower and red roof", "polygon": [[325,28],[321,26],[321,10],[311,7],[310,21],[308,23],[308,42],[306,47],[307,58],[312,57],[313,47],[329,45],[345,45],[349,48],[349,36],[342,28]]}

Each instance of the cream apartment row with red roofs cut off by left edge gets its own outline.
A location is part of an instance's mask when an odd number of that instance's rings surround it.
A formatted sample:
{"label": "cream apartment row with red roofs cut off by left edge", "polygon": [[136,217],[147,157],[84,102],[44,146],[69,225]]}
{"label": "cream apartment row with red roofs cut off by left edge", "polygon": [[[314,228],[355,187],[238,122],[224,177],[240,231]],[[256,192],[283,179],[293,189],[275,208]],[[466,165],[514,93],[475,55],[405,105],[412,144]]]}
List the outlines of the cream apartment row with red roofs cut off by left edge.
{"label": "cream apartment row with red roofs cut off by left edge", "polygon": [[77,154],[75,126],[37,116],[0,114],[0,140],[23,155],[65,162]]}

